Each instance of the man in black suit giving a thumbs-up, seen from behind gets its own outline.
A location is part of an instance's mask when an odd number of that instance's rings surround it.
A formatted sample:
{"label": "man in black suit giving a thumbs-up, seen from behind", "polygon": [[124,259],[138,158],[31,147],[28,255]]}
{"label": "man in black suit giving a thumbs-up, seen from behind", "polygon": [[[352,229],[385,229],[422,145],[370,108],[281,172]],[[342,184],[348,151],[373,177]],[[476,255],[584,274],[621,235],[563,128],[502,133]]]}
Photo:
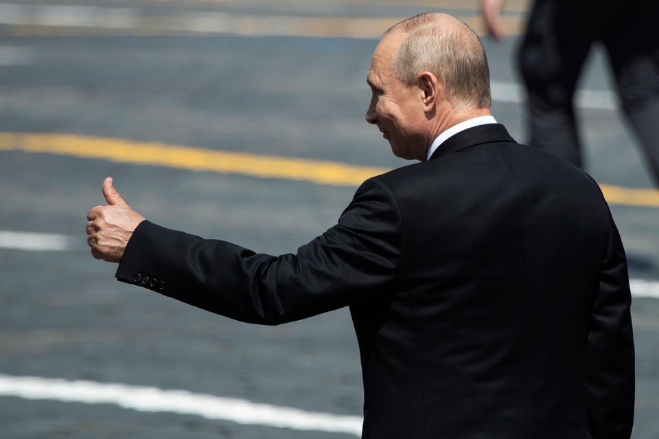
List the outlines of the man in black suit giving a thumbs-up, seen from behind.
{"label": "man in black suit giving a thumbs-up, seen from behind", "polygon": [[496,124],[483,47],[451,16],[392,27],[367,80],[368,122],[421,162],[365,181],[297,254],[165,229],[106,179],[93,256],[244,322],[349,306],[363,438],[629,438],[629,282],[597,184]]}

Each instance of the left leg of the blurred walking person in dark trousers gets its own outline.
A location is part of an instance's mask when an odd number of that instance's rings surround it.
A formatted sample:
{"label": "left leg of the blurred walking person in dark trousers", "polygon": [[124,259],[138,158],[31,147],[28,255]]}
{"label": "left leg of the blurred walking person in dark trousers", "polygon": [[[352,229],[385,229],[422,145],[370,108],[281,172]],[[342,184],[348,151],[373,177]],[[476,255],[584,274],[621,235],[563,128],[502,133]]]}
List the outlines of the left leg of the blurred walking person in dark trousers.
{"label": "left leg of the blurred walking person in dark trousers", "polygon": [[573,95],[592,44],[572,1],[537,0],[518,52],[527,91],[529,144],[581,167]]}

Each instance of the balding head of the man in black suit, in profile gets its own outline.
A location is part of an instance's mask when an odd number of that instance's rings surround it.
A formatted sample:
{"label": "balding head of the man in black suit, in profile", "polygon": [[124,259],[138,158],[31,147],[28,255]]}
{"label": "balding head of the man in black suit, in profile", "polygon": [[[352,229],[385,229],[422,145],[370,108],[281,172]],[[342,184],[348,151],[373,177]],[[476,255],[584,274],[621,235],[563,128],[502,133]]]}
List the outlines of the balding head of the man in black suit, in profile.
{"label": "balding head of the man in black suit, in profile", "polygon": [[404,159],[426,159],[442,131],[489,114],[489,69],[467,25],[446,14],[415,16],[387,30],[367,77],[366,114]]}

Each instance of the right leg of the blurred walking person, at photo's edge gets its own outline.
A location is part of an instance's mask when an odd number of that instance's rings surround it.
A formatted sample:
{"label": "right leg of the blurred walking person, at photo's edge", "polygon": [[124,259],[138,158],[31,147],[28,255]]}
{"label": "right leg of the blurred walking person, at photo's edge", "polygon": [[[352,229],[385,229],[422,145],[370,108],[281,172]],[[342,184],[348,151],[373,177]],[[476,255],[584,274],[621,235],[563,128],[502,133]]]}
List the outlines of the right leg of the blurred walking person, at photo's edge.
{"label": "right leg of the blurred walking person, at photo's edge", "polygon": [[602,41],[622,109],[659,185],[659,3],[629,0],[626,7]]}

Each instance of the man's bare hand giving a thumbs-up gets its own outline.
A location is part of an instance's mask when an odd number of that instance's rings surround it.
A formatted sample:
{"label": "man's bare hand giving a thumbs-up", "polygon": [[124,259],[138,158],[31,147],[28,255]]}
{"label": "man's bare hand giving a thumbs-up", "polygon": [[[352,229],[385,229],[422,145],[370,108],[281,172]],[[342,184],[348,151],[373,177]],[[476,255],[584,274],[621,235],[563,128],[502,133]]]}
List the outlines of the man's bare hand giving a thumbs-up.
{"label": "man's bare hand giving a thumbs-up", "polygon": [[111,177],[103,181],[103,195],[108,205],[92,207],[87,213],[87,244],[94,258],[119,262],[132,232],[145,218],[126,204]]}

